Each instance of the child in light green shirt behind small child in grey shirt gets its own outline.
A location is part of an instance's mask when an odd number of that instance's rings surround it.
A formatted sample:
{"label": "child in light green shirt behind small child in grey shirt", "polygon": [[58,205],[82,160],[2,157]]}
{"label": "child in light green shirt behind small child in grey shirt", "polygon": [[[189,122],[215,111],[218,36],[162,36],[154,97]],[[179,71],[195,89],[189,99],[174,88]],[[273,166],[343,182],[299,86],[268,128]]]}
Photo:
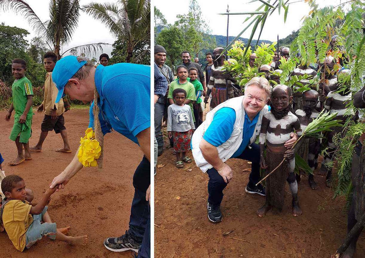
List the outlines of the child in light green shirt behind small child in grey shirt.
{"label": "child in light green shirt behind small child in grey shirt", "polygon": [[[167,96],[167,99],[169,100],[170,104],[174,104],[174,99],[172,96],[172,92],[174,89],[184,89],[187,92],[185,104],[188,104],[191,108],[191,113],[194,112],[193,110],[193,103],[192,101],[196,100],[195,96],[195,88],[194,85],[191,84],[188,79],[188,69],[184,65],[179,65],[176,68],[176,73],[178,79],[175,81],[172,81],[169,87],[169,94]],[[195,118],[193,116],[193,121],[195,122]]]}

